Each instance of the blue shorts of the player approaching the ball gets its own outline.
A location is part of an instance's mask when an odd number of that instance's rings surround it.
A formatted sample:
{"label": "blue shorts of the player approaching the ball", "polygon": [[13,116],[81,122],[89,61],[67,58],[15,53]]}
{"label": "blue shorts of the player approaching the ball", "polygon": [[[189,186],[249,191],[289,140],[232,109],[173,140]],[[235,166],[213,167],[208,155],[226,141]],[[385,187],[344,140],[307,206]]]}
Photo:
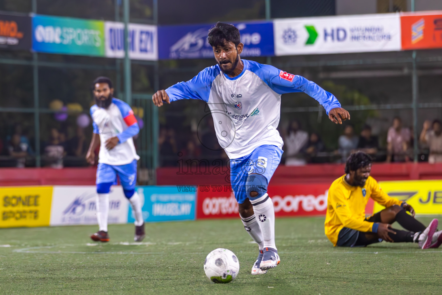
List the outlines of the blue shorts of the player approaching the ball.
{"label": "blue shorts of the player approaching the ball", "polygon": [[245,191],[248,175],[251,173],[261,174],[269,184],[281,161],[282,153],[282,149],[277,146],[263,145],[258,146],[247,156],[230,160],[230,183],[238,203],[242,204],[248,198]]}

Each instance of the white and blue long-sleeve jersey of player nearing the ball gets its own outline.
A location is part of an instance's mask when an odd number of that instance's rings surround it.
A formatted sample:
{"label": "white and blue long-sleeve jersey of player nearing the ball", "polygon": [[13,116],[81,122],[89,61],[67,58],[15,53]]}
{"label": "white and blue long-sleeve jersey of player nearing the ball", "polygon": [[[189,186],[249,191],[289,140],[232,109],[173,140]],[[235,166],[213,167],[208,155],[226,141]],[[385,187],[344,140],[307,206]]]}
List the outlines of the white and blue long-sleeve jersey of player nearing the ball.
{"label": "white and blue long-sleeve jersey of player nearing the ball", "polygon": [[298,75],[271,65],[242,59],[240,75],[229,77],[219,65],[203,69],[187,82],[166,89],[170,101],[199,99],[207,102],[218,142],[230,159],[250,154],[256,147],[282,148],[279,124],[281,95],[305,92],[324,106],[327,114],[341,107],[330,92]]}

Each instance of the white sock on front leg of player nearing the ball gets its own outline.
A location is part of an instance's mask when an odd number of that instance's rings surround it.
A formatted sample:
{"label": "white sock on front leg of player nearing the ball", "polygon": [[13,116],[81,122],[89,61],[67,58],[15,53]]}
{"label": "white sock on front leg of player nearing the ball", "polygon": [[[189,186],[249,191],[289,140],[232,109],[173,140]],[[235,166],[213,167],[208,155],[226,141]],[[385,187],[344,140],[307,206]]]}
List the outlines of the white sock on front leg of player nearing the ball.
{"label": "white sock on front leg of player nearing the ball", "polygon": [[275,211],[273,209],[273,202],[267,193],[262,197],[250,200],[255,212],[256,221],[259,222],[259,227],[263,234],[264,248],[276,248],[275,245]]}

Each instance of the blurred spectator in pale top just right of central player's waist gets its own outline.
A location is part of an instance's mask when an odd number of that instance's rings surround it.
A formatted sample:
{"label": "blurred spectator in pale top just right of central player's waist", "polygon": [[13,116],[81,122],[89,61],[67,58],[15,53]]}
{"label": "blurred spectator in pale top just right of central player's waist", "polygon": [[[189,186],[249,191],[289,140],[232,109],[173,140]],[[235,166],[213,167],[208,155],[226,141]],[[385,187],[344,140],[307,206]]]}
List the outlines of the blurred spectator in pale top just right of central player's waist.
{"label": "blurred spectator in pale top just right of central player's waist", "polygon": [[300,166],[307,163],[305,155],[302,153],[302,148],[304,148],[308,141],[309,134],[301,130],[299,121],[291,121],[284,139],[287,166]]}

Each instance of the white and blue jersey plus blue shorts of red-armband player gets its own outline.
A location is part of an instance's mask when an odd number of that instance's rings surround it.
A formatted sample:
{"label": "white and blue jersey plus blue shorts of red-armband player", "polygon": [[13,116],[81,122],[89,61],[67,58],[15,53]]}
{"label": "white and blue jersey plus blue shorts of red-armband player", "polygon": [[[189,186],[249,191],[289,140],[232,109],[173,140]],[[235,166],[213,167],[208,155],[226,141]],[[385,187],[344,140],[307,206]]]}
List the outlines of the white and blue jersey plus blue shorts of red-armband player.
{"label": "white and blue jersey plus blue shorts of red-armband player", "polygon": [[[124,194],[130,198],[137,182],[137,160],[140,158],[133,145],[132,137],[138,134],[137,119],[130,106],[116,98],[112,99],[107,109],[91,107],[94,133],[100,136],[100,152],[97,168],[97,192],[107,194],[112,184],[116,184],[117,175]],[[118,137],[118,144],[113,149],[106,148],[106,140]]]}

